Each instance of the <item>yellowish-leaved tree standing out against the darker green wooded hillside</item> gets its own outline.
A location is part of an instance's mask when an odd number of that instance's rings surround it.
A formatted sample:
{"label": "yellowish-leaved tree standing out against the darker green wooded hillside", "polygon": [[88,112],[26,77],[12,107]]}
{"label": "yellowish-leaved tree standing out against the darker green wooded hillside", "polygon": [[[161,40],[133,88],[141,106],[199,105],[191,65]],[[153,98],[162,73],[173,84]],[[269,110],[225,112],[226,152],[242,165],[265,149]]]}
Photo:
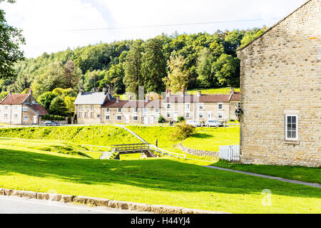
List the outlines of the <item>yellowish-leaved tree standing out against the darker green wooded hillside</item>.
{"label": "yellowish-leaved tree standing out against the darker green wooded hillside", "polygon": [[170,61],[168,61],[168,76],[163,78],[163,81],[167,88],[174,93],[188,86],[188,71],[184,69],[184,63],[183,56],[175,56],[175,53],[170,56]]}

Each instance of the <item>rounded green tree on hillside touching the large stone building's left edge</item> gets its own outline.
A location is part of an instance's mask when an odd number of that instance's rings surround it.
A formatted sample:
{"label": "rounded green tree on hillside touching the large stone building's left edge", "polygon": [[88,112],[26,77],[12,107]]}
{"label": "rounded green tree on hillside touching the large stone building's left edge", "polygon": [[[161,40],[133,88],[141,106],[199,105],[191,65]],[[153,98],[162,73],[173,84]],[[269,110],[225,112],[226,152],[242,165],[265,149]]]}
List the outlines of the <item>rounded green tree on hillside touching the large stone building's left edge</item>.
{"label": "rounded green tree on hillside touching the large stone building's left edge", "polygon": [[212,72],[220,86],[240,86],[240,61],[223,54],[212,65]]}

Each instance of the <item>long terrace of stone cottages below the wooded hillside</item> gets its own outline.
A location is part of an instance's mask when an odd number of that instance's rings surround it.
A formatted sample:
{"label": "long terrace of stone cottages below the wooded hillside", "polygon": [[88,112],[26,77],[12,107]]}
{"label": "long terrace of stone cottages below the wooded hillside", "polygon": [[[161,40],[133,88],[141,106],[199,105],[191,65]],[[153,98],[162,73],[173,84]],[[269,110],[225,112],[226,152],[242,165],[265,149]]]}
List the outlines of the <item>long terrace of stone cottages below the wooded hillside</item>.
{"label": "long terrace of stone cottages below the wooded hillside", "polygon": [[240,93],[230,94],[171,95],[166,91],[162,100],[120,100],[113,98],[106,89],[103,92],[83,93],[75,100],[77,123],[141,123],[156,124],[163,116],[166,121],[185,120],[236,120],[235,110],[240,105]]}

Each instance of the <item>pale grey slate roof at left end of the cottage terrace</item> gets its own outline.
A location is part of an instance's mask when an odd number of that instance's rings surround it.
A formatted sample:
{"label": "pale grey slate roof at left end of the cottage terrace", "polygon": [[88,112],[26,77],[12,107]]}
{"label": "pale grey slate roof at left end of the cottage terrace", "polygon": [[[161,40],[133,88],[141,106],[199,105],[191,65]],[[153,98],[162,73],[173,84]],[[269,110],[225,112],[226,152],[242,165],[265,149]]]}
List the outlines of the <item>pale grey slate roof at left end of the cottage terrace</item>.
{"label": "pale grey slate roof at left end of the cottage terrace", "polygon": [[105,101],[110,100],[108,93],[78,93],[74,105],[103,105]]}

